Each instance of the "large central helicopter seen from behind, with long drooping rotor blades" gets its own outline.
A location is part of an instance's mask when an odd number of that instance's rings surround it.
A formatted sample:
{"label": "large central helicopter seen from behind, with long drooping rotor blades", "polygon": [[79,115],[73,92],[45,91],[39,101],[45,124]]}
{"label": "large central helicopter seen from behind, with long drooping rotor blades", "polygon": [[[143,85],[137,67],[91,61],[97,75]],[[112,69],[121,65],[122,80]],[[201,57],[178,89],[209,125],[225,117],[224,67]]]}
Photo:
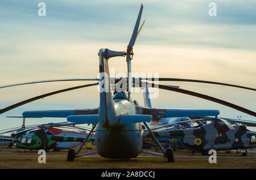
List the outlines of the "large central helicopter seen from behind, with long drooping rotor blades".
{"label": "large central helicopter seen from behind, with long drooping rotor blades", "polygon": [[[88,80],[88,81],[97,81],[97,83],[85,84],[76,87],[61,89],[59,91],[46,93],[44,95],[32,97],[28,100],[18,102],[14,105],[8,106],[0,110],[0,114],[5,113],[11,109],[14,109],[18,106],[27,104],[38,100],[43,97],[48,97],[55,95],[57,93],[72,91],[73,89],[92,87],[93,85],[100,86],[100,106],[94,109],[83,109],[83,110],[39,110],[39,111],[26,111],[23,112],[23,117],[59,117],[67,118],[68,122],[74,123],[85,123],[92,124],[92,130],[82,141],[80,147],[75,151],[75,149],[69,149],[67,161],[74,161],[75,158],[80,156],[90,155],[92,153],[98,153],[101,157],[105,158],[134,158],[137,157],[141,152],[150,153],[156,156],[162,156],[167,158],[167,162],[174,162],[174,153],[172,148],[164,149],[160,144],[159,140],[155,137],[154,133],[148,127],[147,122],[150,122],[156,116],[159,118],[173,118],[173,117],[215,117],[220,114],[219,110],[208,110],[208,109],[155,109],[155,108],[144,108],[138,105],[137,101],[131,100],[130,89],[131,87],[142,87],[143,80],[150,80],[151,82],[155,81],[181,81],[181,82],[196,82],[196,83],[208,83],[208,84],[219,84],[227,85],[230,87],[249,89],[256,91],[254,88],[242,87],[240,85],[233,85],[227,83],[219,82],[209,82],[205,80],[192,80],[192,79],[175,79],[175,78],[133,78],[131,77],[131,59],[133,59],[133,46],[139,32],[143,27],[144,22],[139,28],[141,15],[142,15],[143,5],[139,10],[139,15],[137,22],[135,23],[133,34],[130,38],[129,45],[127,46],[126,51],[116,52],[109,49],[100,49],[98,52],[99,56],[99,72],[100,78],[83,78],[83,79],[56,79],[56,80],[43,80],[38,82],[27,82],[27,83],[18,83],[11,85],[4,85],[0,88],[12,87],[15,85],[23,84],[35,84],[35,83],[48,83],[48,82],[58,82],[58,81],[75,81],[75,80]],[[108,62],[111,58],[114,57],[126,57],[127,62],[127,78],[110,78],[109,77],[109,65]],[[114,92],[112,95],[112,85],[114,87],[121,83],[122,88],[125,91]],[[170,85],[162,85],[157,83],[146,82],[146,85],[150,87],[165,89],[167,91],[174,91],[178,93],[183,93],[185,95],[191,95],[199,98],[204,98],[205,100],[217,102],[228,106],[233,109],[237,109],[243,113],[253,115],[256,117],[256,113],[242,108],[241,106],[232,104],[230,102],[220,100],[215,97],[203,95],[201,93],[188,91],[186,89],[181,89],[177,87],[172,87]],[[127,92],[127,93],[126,93]],[[184,122],[183,122],[184,123]],[[152,139],[159,145],[163,154],[152,153],[142,149],[142,142],[144,137],[144,131],[142,130],[142,124],[148,130],[148,133],[151,135]],[[203,127],[203,126],[202,126]],[[195,129],[195,131],[197,131]],[[82,145],[89,138],[90,134],[95,132],[96,138],[96,147],[97,150],[79,155]],[[164,134],[166,135],[166,134]]]}

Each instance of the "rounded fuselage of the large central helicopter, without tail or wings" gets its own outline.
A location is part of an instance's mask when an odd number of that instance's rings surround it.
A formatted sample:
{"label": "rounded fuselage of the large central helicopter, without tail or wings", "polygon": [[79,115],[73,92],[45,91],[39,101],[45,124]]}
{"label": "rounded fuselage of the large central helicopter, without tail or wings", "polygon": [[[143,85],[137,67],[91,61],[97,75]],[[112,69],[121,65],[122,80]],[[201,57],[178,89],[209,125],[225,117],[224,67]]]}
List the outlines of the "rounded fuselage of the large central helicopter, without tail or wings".
{"label": "rounded fuselage of the large central helicopter, without tail or wings", "polygon": [[[136,114],[135,104],[124,98],[114,99],[114,107],[117,115]],[[102,127],[98,123],[95,135],[97,151],[102,157],[132,158],[141,153],[143,137],[141,123],[113,127]]]}

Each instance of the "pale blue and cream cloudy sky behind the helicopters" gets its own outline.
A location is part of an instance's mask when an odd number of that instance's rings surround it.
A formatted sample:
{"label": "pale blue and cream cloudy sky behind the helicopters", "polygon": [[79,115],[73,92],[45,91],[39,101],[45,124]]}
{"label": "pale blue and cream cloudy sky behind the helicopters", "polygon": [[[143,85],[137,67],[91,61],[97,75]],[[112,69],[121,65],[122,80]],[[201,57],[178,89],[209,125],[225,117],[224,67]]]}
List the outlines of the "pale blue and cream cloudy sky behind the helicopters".
{"label": "pale blue and cream cloudy sky behind the helicopters", "polygon": [[[46,4],[39,16],[38,3]],[[216,16],[209,16],[209,3]],[[34,80],[97,78],[98,50],[126,50],[143,3],[144,27],[134,46],[132,72],[158,72],[162,78],[200,79],[256,88],[256,2],[247,1],[1,1],[0,85]],[[126,59],[109,66],[127,71]],[[0,108],[86,82],[31,84],[0,89]],[[163,82],[255,112],[253,91],[222,85]],[[142,93],[131,97],[143,106]],[[218,109],[220,117],[255,117],[197,97],[159,90],[154,108]],[[0,114],[0,130],[22,125],[25,110],[97,108],[97,87],[43,98]],[[27,124],[64,122],[27,119]]]}

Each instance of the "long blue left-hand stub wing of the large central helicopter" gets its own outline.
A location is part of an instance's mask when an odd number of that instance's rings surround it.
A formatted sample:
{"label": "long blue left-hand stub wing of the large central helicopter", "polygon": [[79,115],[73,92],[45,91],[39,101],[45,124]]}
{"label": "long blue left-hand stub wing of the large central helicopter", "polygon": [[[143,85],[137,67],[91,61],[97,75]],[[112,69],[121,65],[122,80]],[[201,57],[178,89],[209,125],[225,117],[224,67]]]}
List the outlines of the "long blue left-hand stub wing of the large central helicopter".
{"label": "long blue left-hand stub wing of the large central helicopter", "polygon": [[23,112],[23,117],[67,118],[69,115],[98,114],[98,108],[77,110],[35,110]]}

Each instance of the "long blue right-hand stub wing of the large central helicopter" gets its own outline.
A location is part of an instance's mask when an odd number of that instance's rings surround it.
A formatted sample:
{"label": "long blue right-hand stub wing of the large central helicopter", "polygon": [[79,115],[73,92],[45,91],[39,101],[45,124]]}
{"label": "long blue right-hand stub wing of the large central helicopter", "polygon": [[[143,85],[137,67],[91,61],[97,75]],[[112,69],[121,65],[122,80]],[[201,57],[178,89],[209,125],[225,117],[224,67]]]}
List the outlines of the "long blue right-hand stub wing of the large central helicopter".
{"label": "long blue right-hand stub wing of the large central helicopter", "polygon": [[152,115],[153,119],[157,118],[172,118],[172,117],[205,117],[217,116],[220,114],[219,110],[208,109],[155,109],[137,107],[138,114]]}

